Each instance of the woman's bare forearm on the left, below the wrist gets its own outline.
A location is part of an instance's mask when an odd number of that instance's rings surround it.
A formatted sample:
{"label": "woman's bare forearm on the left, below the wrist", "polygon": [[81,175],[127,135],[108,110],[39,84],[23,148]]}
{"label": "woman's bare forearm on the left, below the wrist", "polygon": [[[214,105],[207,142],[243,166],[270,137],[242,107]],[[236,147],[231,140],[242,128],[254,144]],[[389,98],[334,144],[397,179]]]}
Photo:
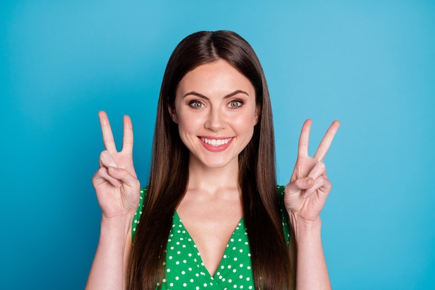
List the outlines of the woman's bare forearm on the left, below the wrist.
{"label": "woman's bare forearm on the left, below the wrist", "polygon": [[[86,290],[121,290],[126,288],[124,256],[132,218],[101,219],[97,252],[86,284]],[[128,253],[127,253],[128,254]]]}

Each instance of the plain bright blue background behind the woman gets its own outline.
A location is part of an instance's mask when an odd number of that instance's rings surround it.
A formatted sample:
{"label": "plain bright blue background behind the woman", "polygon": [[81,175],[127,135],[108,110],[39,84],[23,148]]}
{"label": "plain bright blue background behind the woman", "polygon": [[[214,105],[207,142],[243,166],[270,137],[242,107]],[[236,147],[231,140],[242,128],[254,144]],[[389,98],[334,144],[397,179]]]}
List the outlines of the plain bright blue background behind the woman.
{"label": "plain bright blue background behind the woman", "polygon": [[99,236],[90,179],[135,131],[145,184],[159,86],[172,49],[229,29],[270,86],[280,184],[313,118],[332,120],[334,184],[322,212],[334,289],[435,289],[435,1],[1,1],[0,288],[81,289]]}

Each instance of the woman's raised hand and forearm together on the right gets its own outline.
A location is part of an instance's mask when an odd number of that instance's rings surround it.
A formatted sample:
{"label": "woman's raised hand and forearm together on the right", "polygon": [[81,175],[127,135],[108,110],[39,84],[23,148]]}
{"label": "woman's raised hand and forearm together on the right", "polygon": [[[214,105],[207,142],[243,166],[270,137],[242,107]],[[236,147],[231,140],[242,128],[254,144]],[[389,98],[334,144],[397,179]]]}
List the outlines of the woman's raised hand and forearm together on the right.
{"label": "woman's raised hand and forearm together on the right", "polygon": [[323,160],[340,122],[332,122],[313,157],[308,154],[311,123],[306,120],[302,127],[295,169],[284,195],[291,234],[295,237],[290,240],[289,255],[293,261],[293,277],[296,277],[295,289],[298,290],[331,289],[320,235],[320,211],[331,191]]}

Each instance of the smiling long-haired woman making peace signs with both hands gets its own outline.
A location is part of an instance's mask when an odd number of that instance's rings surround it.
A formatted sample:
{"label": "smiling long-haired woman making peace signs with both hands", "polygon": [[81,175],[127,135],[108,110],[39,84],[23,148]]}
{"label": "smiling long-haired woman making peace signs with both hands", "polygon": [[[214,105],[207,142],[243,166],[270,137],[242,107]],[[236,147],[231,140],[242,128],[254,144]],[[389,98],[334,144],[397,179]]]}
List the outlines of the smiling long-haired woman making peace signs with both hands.
{"label": "smiling long-haired woman making peace signs with both hands", "polygon": [[121,152],[106,113],[99,118],[101,233],[86,289],[330,289],[322,161],[339,122],[313,157],[304,123],[290,183],[277,187],[268,87],[239,35],[193,33],[172,53],[146,188],[133,168],[130,118]]}

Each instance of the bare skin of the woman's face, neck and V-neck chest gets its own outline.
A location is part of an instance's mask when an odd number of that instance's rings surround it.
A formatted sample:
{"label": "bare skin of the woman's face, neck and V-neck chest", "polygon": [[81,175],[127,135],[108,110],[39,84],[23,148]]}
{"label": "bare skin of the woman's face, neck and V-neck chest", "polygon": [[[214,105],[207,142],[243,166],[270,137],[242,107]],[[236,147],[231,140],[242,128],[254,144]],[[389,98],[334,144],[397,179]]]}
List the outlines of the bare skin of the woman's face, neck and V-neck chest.
{"label": "bare skin of the woman's face, neck and V-neck chest", "polygon": [[[238,154],[252,138],[260,108],[252,83],[226,61],[216,61],[181,79],[169,110],[190,151],[190,178],[177,213],[213,275],[243,215]],[[204,137],[231,140],[210,147]],[[224,150],[216,151],[220,147]]]}

